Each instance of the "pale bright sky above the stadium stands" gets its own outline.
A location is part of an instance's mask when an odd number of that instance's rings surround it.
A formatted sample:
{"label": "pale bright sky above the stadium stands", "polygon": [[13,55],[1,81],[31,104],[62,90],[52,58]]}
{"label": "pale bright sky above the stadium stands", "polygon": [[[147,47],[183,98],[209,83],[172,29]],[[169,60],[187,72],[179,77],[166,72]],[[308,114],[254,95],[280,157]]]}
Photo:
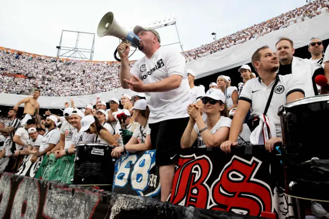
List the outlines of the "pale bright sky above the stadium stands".
{"label": "pale bright sky above the stadium stands", "polygon": [[[304,0],[3,0],[0,46],[56,57],[62,30],[96,33],[102,16],[112,11],[118,24],[127,29],[174,14],[182,47],[189,50],[213,41],[212,32],[220,39],[305,4]],[[157,30],[161,45],[178,42],[175,26]],[[92,40],[92,35],[81,34],[78,46],[91,48]],[[62,46],[75,44],[76,33],[64,32]],[[118,44],[117,38],[99,38],[96,33],[93,60],[113,61]],[[170,47],[180,51],[179,44]],[[131,60],[142,56],[137,50]]]}

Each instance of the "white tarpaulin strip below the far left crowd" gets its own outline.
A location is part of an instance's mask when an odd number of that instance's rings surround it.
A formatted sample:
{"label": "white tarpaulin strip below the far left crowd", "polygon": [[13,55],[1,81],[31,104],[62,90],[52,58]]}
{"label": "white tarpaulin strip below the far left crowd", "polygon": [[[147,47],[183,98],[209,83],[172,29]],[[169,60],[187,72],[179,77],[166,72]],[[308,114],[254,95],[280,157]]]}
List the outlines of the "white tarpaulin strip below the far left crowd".
{"label": "white tarpaulin strip below the far left crowd", "polygon": [[[116,88],[109,92],[104,92],[100,94],[93,95],[83,95],[83,96],[72,96],[72,97],[45,97],[40,96],[38,102],[40,103],[40,108],[64,108],[65,102],[70,102],[70,99],[74,100],[74,104],[76,107],[85,107],[87,104],[95,105],[97,102],[97,98],[99,101],[108,102],[109,99],[115,97],[120,99],[122,94],[131,94],[132,90]],[[15,95],[15,94],[0,94],[0,105],[4,106],[14,106],[20,100],[26,98],[28,96],[25,95]],[[22,104],[21,106],[23,106]]]}

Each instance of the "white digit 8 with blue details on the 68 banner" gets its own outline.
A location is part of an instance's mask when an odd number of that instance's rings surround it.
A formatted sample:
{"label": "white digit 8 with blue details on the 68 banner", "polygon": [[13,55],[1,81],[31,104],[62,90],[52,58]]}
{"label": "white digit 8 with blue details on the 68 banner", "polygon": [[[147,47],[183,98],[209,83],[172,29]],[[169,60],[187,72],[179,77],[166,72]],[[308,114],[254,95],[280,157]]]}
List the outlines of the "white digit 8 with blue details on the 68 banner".
{"label": "white digit 8 with blue details on the 68 banner", "polygon": [[149,186],[150,170],[155,166],[155,150],[145,151],[138,159],[131,174],[132,188],[139,195]]}

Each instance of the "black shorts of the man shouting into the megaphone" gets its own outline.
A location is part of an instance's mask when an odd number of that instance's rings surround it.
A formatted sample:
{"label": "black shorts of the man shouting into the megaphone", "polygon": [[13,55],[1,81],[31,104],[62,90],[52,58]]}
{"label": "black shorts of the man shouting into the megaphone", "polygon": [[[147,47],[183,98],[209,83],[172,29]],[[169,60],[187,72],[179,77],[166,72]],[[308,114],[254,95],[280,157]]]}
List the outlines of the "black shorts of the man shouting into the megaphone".
{"label": "black shorts of the man shouting into the megaphone", "polygon": [[189,117],[169,119],[149,124],[152,147],[155,146],[157,166],[174,164],[179,158],[180,138],[183,135]]}

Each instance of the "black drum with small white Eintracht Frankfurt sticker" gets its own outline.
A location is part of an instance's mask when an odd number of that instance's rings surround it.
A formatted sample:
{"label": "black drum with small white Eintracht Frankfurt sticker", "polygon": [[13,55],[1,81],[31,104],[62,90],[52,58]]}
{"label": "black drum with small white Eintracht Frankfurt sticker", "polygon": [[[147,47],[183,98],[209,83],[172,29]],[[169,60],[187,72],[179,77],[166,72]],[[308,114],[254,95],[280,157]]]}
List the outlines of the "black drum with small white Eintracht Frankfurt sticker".
{"label": "black drum with small white Eintracht Frankfurt sticker", "polygon": [[113,147],[99,143],[76,145],[73,183],[76,185],[112,185],[114,163]]}

